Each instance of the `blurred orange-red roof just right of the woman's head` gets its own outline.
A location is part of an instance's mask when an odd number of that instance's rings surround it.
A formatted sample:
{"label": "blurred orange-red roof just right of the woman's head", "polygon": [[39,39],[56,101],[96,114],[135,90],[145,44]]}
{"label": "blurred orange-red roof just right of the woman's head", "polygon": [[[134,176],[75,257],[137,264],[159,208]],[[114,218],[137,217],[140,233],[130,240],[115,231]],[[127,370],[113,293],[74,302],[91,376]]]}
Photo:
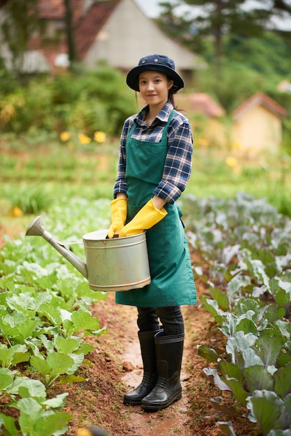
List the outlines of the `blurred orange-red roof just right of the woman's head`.
{"label": "blurred orange-red roof just right of the woman's head", "polygon": [[212,118],[225,115],[223,107],[212,100],[207,93],[181,93],[175,96],[175,100],[178,102],[180,109],[185,109],[186,111],[199,112]]}

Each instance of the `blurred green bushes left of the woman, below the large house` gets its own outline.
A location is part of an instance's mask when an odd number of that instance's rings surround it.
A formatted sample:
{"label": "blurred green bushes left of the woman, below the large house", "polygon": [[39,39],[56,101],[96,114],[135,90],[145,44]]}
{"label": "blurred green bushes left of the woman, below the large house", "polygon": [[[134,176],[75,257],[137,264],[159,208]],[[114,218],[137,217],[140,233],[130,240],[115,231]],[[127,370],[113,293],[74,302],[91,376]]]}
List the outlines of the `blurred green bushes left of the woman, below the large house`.
{"label": "blurred green bushes left of the woman, below the large house", "polygon": [[70,131],[120,133],[136,111],[123,74],[104,63],[95,70],[29,81],[0,102],[0,128],[6,132]]}

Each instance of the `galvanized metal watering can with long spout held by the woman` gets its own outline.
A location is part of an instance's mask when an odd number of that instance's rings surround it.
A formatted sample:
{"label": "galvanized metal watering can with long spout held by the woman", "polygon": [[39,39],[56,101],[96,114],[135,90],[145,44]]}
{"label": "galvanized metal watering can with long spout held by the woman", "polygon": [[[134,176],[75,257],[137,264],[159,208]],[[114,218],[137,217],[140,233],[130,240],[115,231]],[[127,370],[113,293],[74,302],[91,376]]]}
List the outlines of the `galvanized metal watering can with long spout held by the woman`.
{"label": "galvanized metal watering can with long spout held by the woman", "polygon": [[83,235],[86,263],[45,230],[42,216],[26,229],[26,236],[42,236],[88,279],[92,290],[120,291],[150,283],[146,233],[107,239],[108,230]]}

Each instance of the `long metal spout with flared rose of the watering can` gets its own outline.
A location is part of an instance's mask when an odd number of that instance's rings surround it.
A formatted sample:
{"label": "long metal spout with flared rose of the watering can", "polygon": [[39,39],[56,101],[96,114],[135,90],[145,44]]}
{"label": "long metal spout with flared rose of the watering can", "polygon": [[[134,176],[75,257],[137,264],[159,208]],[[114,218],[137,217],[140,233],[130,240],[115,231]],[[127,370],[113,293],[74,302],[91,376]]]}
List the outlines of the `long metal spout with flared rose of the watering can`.
{"label": "long metal spout with flared rose of the watering can", "polygon": [[88,279],[88,271],[86,263],[82,262],[72,251],[67,249],[63,244],[58,242],[49,232],[45,230],[45,223],[42,216],[36,217],[31,221],[31,224],[26,228],[26,236],[41,236],[49,244],[58,251],[65,259],[67,259],[73,267],[75,267],[81,274]]}

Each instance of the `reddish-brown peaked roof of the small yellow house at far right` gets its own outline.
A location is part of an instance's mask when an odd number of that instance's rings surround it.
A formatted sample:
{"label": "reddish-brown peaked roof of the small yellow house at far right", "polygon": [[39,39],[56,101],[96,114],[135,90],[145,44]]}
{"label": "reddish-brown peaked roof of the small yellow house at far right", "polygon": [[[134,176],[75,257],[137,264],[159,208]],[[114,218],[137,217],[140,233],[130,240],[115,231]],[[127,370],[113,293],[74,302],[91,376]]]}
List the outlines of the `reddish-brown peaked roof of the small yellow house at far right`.
{"label": "reddish-brown peaked roof of the small yellow house at far right", "polygon": [[235,120],[239,120],[244,114],[246,114],[247,111],[252,109],[255,106],[262,106],[265,107],[268,111],[272,112],[273,114],[277,116],[286,116],[287,111],[284,109],[280,104],[275,102],[272,98],[268,97],[268,95],[264,93],[255,93],[243,102],[235,111],[233,112],[233,118]]}

